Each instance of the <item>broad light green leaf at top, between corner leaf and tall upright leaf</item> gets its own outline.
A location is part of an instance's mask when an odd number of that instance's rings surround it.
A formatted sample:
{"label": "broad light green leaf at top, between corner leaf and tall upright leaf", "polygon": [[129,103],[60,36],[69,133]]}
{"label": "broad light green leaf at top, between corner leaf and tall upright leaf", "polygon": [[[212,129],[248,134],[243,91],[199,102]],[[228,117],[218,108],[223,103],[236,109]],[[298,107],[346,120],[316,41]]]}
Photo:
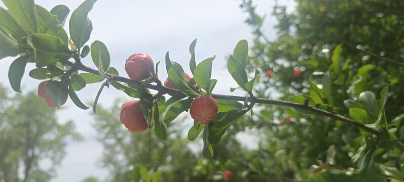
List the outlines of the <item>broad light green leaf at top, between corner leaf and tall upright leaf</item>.
{"label": "broad light green leaf at top, between corner leaf and tall upright leaf", "polygon": [[62,25],[57,21],[56,16],[52,15],[48,10],[39,5],[35,5],[38,10],[38,27],[40,33],[57,36],[66,44],[68,44],[68,36]]}

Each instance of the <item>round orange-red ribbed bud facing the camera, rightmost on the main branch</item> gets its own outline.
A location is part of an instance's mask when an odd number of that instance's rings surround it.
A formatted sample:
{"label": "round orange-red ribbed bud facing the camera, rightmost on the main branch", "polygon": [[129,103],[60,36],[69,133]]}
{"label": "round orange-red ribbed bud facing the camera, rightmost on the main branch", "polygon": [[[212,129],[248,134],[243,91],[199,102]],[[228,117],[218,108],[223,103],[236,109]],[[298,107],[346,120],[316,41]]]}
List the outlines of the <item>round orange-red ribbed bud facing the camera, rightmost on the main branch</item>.
{"label": "round orange-red ribbed bud facing the camera, rightmost on the main branch", "polygon": [[191,117],[199,124],[207,124],[213,121],[217,111],[217,103],[210,96],[199,96],[195,98],[190,107]]}

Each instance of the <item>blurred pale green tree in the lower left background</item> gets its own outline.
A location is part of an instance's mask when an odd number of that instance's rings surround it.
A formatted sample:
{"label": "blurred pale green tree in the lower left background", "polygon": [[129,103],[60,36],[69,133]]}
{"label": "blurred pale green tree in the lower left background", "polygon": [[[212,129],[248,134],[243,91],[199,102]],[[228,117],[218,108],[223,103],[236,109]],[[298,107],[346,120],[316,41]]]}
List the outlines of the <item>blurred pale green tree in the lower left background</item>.
{"label": "blurred pale green tree in the lower left background", "polygon": [[[66,139],[82,139],[72,121],[59,123],[56,109],[47,107],[33,91],[9,96],[0,85],[0,181],[50,181]],[[45,162],[50,166],[41,167]]]}

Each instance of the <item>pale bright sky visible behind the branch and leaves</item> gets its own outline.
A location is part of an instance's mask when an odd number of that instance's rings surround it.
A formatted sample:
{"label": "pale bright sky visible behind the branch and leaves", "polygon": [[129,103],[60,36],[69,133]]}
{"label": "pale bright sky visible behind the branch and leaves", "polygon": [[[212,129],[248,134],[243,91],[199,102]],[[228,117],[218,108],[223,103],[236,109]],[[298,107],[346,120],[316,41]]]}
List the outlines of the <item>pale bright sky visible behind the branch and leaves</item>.
{"label": "pale bright sky visible behind the branch and leaves", "polygon": [[[70,8],[70,15],[82,1],[66,0],[36,0],[36,4],[51,10],[56,5],[66,5]],[[269,15],[272,11],[273,1],[256,0],[259,5],[257,11],[260,14]],[[286,1],[291,3],[291,1]],[[226,57],[232,54],[237,42],[246,39],[251,44],[251,28],[244,20],[247,14],[239,8],[240,1],[98,1],[89,18],[93,23],[93,31],[90,45],[94,40],[101,40],[108,48],[111,55],[111,66],[118,69],[120,75],[126,76],[124,70],[125,59],[131,54],[144,52],[149,54],[154,62],[164,63],[164,56],[170,52],[172,61],[180,63],[187,73],[189,69],[190,53],[188,51],[190,43],[198,38],[196,44],[197,64],[202,60],[216,55],[213,61],[212,78],[218,79],[214,93],[244,95],[242,92],[230,93],[230,87],[237,87],[237,83],[228,73]],[[0,6],[5,7],[0,3]],[[292,5],[288,5],[292,10]],[[69,19],[69,17],[68,17]],[[272,17],[267,17],[264,23],[265,34],[270,38],[275,38],[272,29],[275,24]],[[65,27],[68,32],[68,22]],[[8,68],[15,58],[6,58],[0,61],[0,82],[10,90],[8,82]],[[95,68],[91,55],[82,62]],[[26,68],[26,75],[22,79],[23,93],[28,90],[37,89],[41,80],[30,78],[27,74],[34,68],[30,64]],[[162,81],[167,77],[165,65],[159,66],[159,77]],[[88,84],[77,94],[83,101],[92,101],[97,94],[101,83]],[[104,89],[99,103],[107,106],[116,97],[130,99],[126,94],[116,90],[114,87]],[[59,121],[66,122],[74,120],[78,131],[85,136],[85,141],[80,143],[68,143],[67,156],[62,161],[62,165],[57,169],[58,176],[52,181],[80,181],[87,176],[94,175],[103,179],[109,173],[107,170],[97,166],[97,160],[101,156],[102,146],[95,140],[95,130],[92,128],[92,120],[88,110],[77,108],[70,100],[63,105],[63,110],[58,112]],[[117,116],[119,117],[119,116]],[[190,122],[192,124],[192,122]],[[190,125],[191,125],[190,124]],[[244,141],[247,136],[243,134]],[[248,140],[248,138],[247,138]],[[248,143],[248,142],[245,142]],[[253,147],[253,146],[247,146]]]}

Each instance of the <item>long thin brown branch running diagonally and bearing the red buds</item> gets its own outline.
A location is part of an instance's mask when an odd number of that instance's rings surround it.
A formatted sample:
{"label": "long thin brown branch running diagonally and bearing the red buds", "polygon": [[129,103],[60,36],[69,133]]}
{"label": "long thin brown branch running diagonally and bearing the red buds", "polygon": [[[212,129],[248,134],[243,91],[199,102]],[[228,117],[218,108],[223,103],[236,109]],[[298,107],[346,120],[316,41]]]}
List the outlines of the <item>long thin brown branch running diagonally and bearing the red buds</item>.
{"label": "long thin brown branch running diagonally and bearing the red buds", "polygon": [[[96,75],[99,75],[99,71],[92,69],[90,67],[87,67],[81,63],[72,63],[67,61],[66,63],[67,65],[70,65],[71,67],[74,67],[78,70],[82,70],[82,71],[86,71],[89,73],[93,73]],[[122,81],[128,84],[133,84],[133,85],[140,85],[141,82],[140,81],[135,81],[129,78],[125,78],[122,76],[118,76],[118,75],[114,75],[114,74],[110,74],[110,73],[105,73],[108,77],[111,77],[112,80],[115,81]],[[177,90],[177,89],[172,89],[172,88],[167,88],[163,85],[152,85],[152,84],[146,84],[144,85],[144,87],[146,88],[150,88],[150,89],[154,89],[154,90],[158,90],[159,92],[162,92],[162,94],[175,94],[175,95],[183,95],[185,96],[185,94],[183,94],[181,91]],[[287,101],[279,101],[279,100],[272,100],[272,99],[263,99],[263,98],[256,98],[256,97],[241,97],[241,96],[229,96],[229,95],[221,95],[221,94],[211,94],[212,98],[214,99],[223,99],[223,100],[232,100],[232,101],[247,101],[251,104],[271,104],[271,105],[278,105],[278,106],[286,106],[286,107],[291,107],[291,108],[296,108],[296,109],[301,109],[301,110],[305,110],[305,111],[309,111],[309,112],[313,112],[319,115],[323,115],[323,116],[327,116],[330,118],[334,118],[337,120],[340,120],[342,122],[345,122],[347,124],[356,126],[360,129],[363,129],[365,131],[368,131],[372,134],[376,134],[379,135],[380,132],[372,129],[370,127],[366,127],[365,125],[358,123],[352,119],[346,118],[342,115],[339,114],[334,114],[328,111],[324,111],[318,108],[313,108],[311,106],[308,106],[306,104],[298,104],[298,103],[293,103],[293,102],[287,102]],[[398,142],[396,145],[397,148],[401,149],[402,151],[404,151],[404,144]]]}

